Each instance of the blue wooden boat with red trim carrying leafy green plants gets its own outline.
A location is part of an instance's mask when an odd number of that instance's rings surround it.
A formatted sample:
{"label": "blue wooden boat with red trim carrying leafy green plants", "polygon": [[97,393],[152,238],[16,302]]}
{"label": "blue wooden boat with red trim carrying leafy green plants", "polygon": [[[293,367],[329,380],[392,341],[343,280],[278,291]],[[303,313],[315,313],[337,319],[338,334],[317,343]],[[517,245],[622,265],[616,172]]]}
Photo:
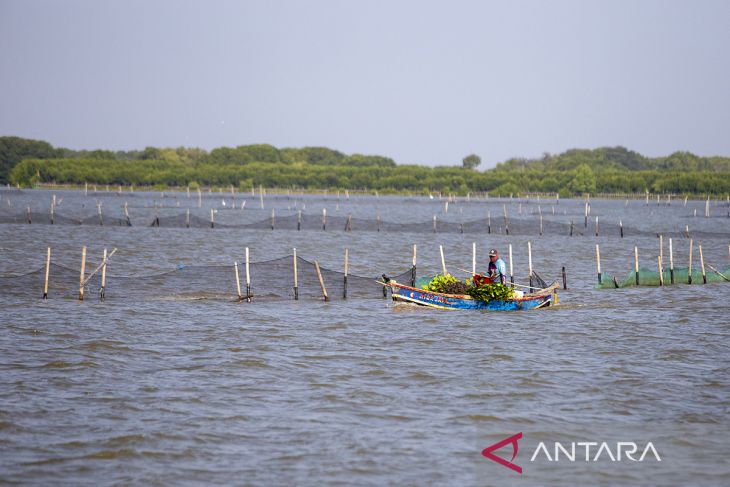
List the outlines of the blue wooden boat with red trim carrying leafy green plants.
{"label": "blue wooden boat with red trim carrying leafy green plants", "polygon": [[555,283],[545,289],[536,290],[519,298],[512,298],[506,301],[489,301],[488,303],[485,303],[484,301],[474,299],[466,294],[434,293],[399,284],[392,279],[387,281],[385,285],[390,287],[393,301],[415,303],[421,306],[429,306],[431,308],[483,309],[492,311],[520,311],[544,308],[557,304],[557,289],[559,287],[559,285]]}

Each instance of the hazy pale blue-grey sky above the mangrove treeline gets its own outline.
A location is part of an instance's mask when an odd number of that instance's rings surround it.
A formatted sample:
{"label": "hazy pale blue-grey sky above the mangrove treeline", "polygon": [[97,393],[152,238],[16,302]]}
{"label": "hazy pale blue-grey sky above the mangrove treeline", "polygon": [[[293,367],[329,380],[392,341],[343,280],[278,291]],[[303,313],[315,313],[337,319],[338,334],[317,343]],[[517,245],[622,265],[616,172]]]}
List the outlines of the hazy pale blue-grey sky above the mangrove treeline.
{"label": "hazy pale blue-grey sky above the mangrove treeline", "polygon": [[730,155],[725,0],[0,0],[0,135],[482,169]]}

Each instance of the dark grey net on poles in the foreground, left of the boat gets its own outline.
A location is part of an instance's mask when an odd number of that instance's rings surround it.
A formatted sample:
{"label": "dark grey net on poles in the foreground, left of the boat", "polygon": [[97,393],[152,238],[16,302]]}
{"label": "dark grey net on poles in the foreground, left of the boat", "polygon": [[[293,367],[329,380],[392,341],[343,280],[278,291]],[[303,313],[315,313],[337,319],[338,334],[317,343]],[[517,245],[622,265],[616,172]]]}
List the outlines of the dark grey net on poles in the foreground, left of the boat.
{"label": "dark grey net on poles in the foreground, left of the boat", "polygon": [[[253,300],[294,299],[294,259],[292,256],[252,262],[249,265],[250,292]],[[84,286],[87,297],[98,296],[101,290],[101,271],[87,263]],[[246,295],[245,265],[239,264],[241,294]],[[330,300],[347,298],[383,298],[384,287],[377,281],[380,276],[348,275],[320,267]],[[410,283],[412,270],[394,275],[399,282]],[[43,295],[45,267],[21,274],[0,276],[0,295]],[[78,298],[80,270],[51,263],[48,295],[51,298]],[[297,256],[297,295],[299,299],[322,299],[323,292],[315,263]],[[107,273],[106,299],[226,299],[237,298],[235,268],[233,265],[179,266],[167,272],[151,275],[114,275]]]}

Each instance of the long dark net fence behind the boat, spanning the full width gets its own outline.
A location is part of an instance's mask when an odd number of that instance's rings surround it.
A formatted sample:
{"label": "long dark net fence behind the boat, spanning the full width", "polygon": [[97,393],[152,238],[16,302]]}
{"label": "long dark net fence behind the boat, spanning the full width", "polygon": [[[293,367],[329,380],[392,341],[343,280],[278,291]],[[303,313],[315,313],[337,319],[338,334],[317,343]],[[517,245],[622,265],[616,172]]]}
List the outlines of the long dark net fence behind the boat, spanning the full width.
{"label": "long dark net fence behind the boat, spanning the full width", "polygon": [[498,235],[562,235],[562,236],[651,236],[660,233],[672,237],[685,238],[728,238],[730,231],[702,231],[689,228],[654,232],[639,230],[633,227],[607,223],[597,218],[571,219],[569,222],[559,222],[552,218],[514,218],[514,217],[487,217],[477,220],[453,221],[439,218],[434,215],[431,220],[420,222],[399,223],[376,218],[360,218],[351,215],[312,214],[299,211],[294,214],[280,216],[272,211],[270,216],[251,223],[231,223],[216,220],[217,212],[211,212],[202,217],[190,212],[177,215],[151,215],[145,218],[131,218],[123,216],[109,216],[98,212],[91,216],[72,218],[59,213],[32,213],[30,211],[13,215],[0,215],[0,223],[5,224],[40,224],[40,225],[91,225],[91,226],[122,226],[122,227],[160,227],[160,228],[232,228],[254,230],[319,230],[345,232],[410,232],[410,233],[463,233],[463,234],[498,234]]}

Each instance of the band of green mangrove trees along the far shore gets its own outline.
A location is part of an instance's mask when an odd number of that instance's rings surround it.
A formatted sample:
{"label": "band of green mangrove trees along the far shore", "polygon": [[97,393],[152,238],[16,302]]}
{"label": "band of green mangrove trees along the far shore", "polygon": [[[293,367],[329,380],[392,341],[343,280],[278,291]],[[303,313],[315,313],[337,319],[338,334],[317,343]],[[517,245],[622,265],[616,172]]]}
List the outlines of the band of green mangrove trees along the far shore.
{"label": "band of green mangrove trees along the far shore", "polygon": [[730,158],[675,152],[648,158],[623,147],[571,149],[539,159],[510,159],[478,171],[471,154],[461,165],[396,165],[377,155],[326,147],[278,149],[256,144],[142,151],[72,151],[43,141],[0,137],[0,184],[114,184],[363,189],[493,195],[560,193],[730,193]]}

